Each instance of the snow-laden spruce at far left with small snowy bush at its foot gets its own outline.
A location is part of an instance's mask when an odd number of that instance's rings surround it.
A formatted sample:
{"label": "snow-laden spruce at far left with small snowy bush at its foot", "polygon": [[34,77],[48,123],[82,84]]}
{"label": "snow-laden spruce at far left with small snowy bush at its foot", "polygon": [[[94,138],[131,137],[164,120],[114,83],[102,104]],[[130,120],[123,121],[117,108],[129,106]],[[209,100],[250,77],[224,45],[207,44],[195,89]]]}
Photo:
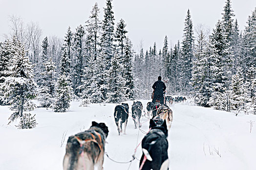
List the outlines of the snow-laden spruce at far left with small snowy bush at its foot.
{"label": "snow-laden spruce at far left with small snowy bush at its foot", "polygon": [[32,64],[26,55],[27,51],[23,44],[16,37],[12,41],[11,48],[13,49],[12,64],[8,68],[8,77],[1,85],[4,98],[11,105],[11,110],[14,111],[8,124],[20,119],[17,126],[19,129],[34,128],[37,124],[35,116],[26,112],[35,108],[35,104],[31,102],[36,97]]}

